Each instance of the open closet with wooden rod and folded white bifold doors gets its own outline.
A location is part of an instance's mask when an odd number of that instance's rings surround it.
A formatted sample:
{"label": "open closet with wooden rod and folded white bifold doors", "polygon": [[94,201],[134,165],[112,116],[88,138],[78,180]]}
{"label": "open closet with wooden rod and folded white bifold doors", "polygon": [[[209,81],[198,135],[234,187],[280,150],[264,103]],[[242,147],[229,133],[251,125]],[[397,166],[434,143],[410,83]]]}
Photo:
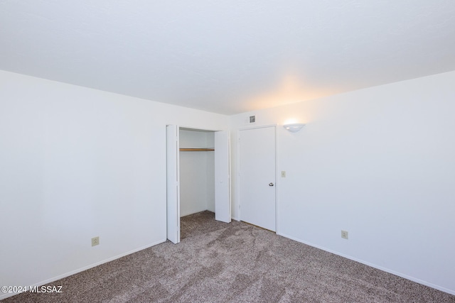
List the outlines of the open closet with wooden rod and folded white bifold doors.
{"label": "open closet with wooden rod and folded white bifold doors", "polygon": [[230,153],[228,131],[166,126],[167,238],[180,242],[180,218],[214,211],[230,222]]}

